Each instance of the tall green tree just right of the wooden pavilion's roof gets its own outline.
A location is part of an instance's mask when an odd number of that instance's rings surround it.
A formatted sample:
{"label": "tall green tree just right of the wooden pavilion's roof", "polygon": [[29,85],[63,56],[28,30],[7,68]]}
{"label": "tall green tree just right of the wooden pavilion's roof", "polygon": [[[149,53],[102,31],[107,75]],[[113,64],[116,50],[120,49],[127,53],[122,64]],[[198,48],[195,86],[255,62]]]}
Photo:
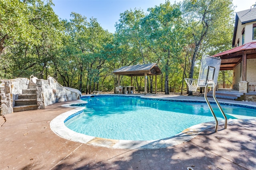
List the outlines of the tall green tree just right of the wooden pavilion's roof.
{"label": "tall green tree just right of the wooden pavilion's roof", "polygon": [[169,94],[169,75],[172,65],[180,62],[179,53],[184,41],[179,4],[169,1],[148,10],[143,20],[148,48],[158,56],[165,73],[165,94]]}

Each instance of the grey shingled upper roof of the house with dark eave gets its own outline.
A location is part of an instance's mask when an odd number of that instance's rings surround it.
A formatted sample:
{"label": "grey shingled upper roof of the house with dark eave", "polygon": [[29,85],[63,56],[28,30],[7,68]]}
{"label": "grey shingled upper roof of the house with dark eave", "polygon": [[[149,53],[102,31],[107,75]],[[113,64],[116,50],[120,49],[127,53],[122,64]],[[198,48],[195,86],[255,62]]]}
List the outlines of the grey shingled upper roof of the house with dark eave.
{"label": "grey shingled upper roof of the house with dark eave", "polygon": [[234,47],[236,44],[235,41],[236,41],[236,31],[237,31],[237,26],[238,26],[238,19],[241,21],[242,24],[256,21],[256,8],[252,8],[249,10],[244,10],[244,11],[240,11],[240,12],[236,13],[232,47]]}

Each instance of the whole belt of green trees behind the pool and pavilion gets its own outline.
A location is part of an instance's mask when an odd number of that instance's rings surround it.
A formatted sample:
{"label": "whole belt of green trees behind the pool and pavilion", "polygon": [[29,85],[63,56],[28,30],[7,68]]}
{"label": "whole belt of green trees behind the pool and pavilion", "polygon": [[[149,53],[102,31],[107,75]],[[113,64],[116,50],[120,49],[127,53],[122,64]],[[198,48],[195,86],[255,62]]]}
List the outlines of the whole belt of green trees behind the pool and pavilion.
{"label": "whole belt of green trees behind the pool and pavilion", "polygon": [[[158,89],[180,88],[184,78],[198,75],[200,56],[230,49],[233,31],[231,0],[184,0],[126,10],[116,33],[104,30],[96,18],[71,13],[59,20],[52,1],[0,0],[0,78],[48,75],[86,94],[113,91],[121,66],[157,63],[162,70]],[[193,75],[192,74],[192,75]],[[148,76],[150,91],[154,78]],[[224,72],[219,81],[232,81]],[[121,76],[122,85],[130,85]],[[144,77],[133,77],[143,89]]]}

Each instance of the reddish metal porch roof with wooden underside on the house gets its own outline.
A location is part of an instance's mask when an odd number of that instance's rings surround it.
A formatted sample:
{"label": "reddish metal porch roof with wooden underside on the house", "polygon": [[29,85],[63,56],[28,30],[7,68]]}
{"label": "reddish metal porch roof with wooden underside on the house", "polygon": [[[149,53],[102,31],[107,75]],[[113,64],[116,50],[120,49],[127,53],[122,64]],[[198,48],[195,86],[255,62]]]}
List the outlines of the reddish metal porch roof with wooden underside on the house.
{"label": "reddish metal porch roof with wooden underside on the house", "polygon": [[220,70],[233,70],[242,61],[243,54],[246,53],[247,59],[256,59],[256,42],[246,43],[239,47],[223,51],[212,57],[220,57]]}

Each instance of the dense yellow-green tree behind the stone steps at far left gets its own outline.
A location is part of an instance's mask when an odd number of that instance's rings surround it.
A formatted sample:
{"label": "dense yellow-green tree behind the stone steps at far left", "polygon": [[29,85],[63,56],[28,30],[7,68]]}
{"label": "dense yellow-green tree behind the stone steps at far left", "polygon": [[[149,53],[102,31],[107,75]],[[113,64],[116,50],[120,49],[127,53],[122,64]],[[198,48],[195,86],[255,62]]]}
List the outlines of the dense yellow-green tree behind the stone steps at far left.
{"label": "dense yellow-green tree behind the stone steps at far left", "polygon": [[[59,21],[51,8],[52,2],[0,2],[5,5],[0,12],[1,58],[10,61],[15,77],[36,74],[38,78],[46,78],[60,44]],[[7,74],[8,71],[5,70]]]}

